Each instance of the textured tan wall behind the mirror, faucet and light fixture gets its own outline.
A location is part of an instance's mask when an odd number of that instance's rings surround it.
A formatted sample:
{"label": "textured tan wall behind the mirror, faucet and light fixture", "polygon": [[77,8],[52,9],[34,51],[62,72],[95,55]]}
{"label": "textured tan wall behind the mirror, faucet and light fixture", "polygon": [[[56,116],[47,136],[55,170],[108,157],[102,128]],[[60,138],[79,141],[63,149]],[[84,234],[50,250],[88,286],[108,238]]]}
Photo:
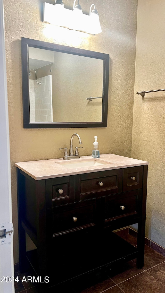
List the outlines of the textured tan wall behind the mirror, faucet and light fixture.
{"label": "textured tan wall behind the mirror, faucet and light fixture", "polygon": [[[97,135],[101,154],[131,156],[137,0],[95,0],[103,31],[95,36],[43,23],[43,2],[4,0],[15,262],[18,234],[14,162],[60,158],[63,151],[58,149],[69,147],[74,132],[83,142],[80,155],[91,154]],[[64,2],[65,7],[72,8],[73,0]],[[89,12],[90,4],[89,0],[81,0],[84,12]],[[110,54],[107,128],[23,129],[21,37]],[[74,146],[76,142],[75,138]]]}

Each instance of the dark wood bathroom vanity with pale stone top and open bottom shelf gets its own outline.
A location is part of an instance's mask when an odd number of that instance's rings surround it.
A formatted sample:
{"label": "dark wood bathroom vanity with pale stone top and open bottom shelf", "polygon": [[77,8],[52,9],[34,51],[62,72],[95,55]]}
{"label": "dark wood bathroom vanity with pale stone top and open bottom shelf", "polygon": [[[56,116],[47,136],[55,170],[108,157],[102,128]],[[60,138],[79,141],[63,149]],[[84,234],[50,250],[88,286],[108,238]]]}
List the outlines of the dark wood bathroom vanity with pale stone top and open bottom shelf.
{"label": "dark wood bathroom vanity with pale stone top and open bottom shelf", "polygon": [[[20,269],[29,260],[49,277],[40,292],[134,258],[143,267],[148,162],[104,154],[15,165]],[[112,232],[135,223],[137,248]],[[26,252],[25,232],[37,249]]]}

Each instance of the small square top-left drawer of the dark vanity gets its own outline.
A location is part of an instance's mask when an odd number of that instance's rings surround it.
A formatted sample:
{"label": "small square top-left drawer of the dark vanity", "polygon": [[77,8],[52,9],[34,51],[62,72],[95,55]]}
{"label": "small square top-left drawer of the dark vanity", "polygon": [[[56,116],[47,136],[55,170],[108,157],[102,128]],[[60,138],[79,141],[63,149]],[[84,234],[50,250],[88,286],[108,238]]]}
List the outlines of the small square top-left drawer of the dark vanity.
{"label": "small square top-left drawer of the dark vanity", "polygon": [[75,201],[75,176],[46,179],[46,207],[57,207]]}

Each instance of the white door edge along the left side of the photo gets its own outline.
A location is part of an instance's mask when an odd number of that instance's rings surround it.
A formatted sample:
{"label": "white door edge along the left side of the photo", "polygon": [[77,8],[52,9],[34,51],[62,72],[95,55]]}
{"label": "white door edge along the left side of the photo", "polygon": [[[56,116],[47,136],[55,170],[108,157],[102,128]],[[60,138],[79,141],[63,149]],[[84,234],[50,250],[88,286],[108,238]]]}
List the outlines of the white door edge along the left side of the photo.
{"label": "white door edge along the left side of the photo", "polygon": [[[11,171],[3,11],[3,0],[0,0],[0,223],[2,224],[0,231],[4,229],[5,224],[6,232],[10,233],[7,229],[10,225],[12,227]],[[2,234],[3,231],[0,235],[3,236]],[[0,292],[14,293],[14,282],[11,282],[11,277],[14,276],[13,241],[11,237],[8,242],[9,235],[7,234],[0,238],[0,241],[6,239],[6,242],[3,241],[0,245]],[[3,280],[1,277],[5,277],[5,282],[1,282]],[[6,277],[10,278],[9,282]]]}

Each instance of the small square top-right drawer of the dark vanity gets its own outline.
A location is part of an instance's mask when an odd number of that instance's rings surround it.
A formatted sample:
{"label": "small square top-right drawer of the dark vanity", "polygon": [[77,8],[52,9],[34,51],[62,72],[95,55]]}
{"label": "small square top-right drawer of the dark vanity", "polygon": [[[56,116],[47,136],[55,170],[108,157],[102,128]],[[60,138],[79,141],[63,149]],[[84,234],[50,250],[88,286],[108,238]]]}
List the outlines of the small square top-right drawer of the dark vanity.
{"label": "small square top-right drawer of the dark vanity", "polygon": [[143,184],[143,166],[123,169],[123,191],[141,189]]}

